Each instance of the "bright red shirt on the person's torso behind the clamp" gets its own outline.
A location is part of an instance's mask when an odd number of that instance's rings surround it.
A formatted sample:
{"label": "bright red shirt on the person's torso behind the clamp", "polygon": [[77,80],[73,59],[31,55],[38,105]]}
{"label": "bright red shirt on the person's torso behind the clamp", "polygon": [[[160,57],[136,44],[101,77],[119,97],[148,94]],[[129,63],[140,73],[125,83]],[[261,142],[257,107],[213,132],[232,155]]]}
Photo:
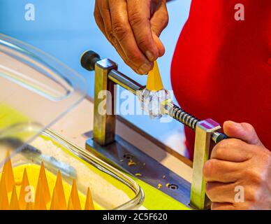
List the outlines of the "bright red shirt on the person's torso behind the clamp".
{"label": "bright red shirt on the person's torso behind the clamp", "polygon": [[[235,20],[235,4],[244,20]],[[271,149],[271,1],[192,0],[175,49],[171,81],[187,112],[221,125],[254,125]],[[193,155],[193,131],[186,128]]]}

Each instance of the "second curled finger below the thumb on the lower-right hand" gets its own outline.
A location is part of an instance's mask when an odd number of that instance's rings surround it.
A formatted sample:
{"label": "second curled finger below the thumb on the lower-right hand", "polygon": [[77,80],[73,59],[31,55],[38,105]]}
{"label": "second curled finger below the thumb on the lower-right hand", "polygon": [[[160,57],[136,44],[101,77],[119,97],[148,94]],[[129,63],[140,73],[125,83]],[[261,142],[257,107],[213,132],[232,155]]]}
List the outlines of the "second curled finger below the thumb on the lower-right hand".
{"label": "second curled finger below the thumb on the lower-right hand", "polygon": [[203,174],[207,182],[233,183],[240,177],[237,163],[217,159],[205,162]]}

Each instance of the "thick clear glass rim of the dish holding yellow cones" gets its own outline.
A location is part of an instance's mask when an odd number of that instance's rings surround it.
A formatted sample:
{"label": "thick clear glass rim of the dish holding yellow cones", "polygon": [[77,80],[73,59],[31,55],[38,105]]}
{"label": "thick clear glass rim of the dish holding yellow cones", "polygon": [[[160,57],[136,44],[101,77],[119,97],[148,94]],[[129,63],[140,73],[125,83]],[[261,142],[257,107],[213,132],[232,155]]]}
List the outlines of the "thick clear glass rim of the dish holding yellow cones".
{"label": "thick clear glass rim of the dish holding yellow cones", "polygon": [[56,132],[47,129],[43,132],[43,134],[49,135],[50,137],[52,137],[52,139],[55,139],[56,141],[66,146],[66,148],[68,148],[73,154],[77,155],[82,160],[89,162],[89,164],[93,165],[102,172],[105,172],[106,174],[113,176],[115,179],[121,181],[131,190],[133,190],[136,196],[133,197],[133,199],[130,200],[129,202],[120,205],[114,210],[134,210],[138,209],[142,205],[145,199],[145,195],[142,188],[140,188],[136,181],[133,181],[133,179],[131,179],[129,176],[126,176],[126,174],[108,165],[106,162],[103,162],[103,160],[96,158],[94,155],[91,155],[91,153],[85,151],[84,149],[78,146],[75,146],[74,144],[71,143],[71,141],[68,141],[64,137],[61,137]]}

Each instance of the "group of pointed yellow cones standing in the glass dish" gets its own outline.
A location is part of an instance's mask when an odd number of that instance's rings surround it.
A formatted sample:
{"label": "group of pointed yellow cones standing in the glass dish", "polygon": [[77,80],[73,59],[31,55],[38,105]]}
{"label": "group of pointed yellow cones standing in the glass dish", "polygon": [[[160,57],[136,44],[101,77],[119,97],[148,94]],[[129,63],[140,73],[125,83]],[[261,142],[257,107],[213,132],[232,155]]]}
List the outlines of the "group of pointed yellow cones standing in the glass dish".
{"label": "group of pointed yellow cones standing in the glass dish", "polygon": [[[21,174],[21,173],[20,173]],[[81,210],[80,197],[76,181],[73,180],[71,194],[66,204],[65,190],[62,182],[60,170],[57,172],[52,197],[50,195],[50,186],[47,181],[46,171],[43,162],[38,175],[36,193],[30,186],[27,169],[24,167],[22,181],[15,182],[13,167],[11,165],[10,155],[7,153],[6,162],[3,165],[3,171],[0,173],[0,210]],[[17,180],[17,177],[16,177]],[[52,181],[50,182],[52,183]],[[67,183],[65,183],[67,186]],[[17,188],[20,187],[20,195],[17,195]],[[52,186],[51,186],[52,187]],[[17,189],[17,190],[16,190]],[[52,188],[51,188],[52,189]],[[87,188],[85,201],[85,210],[94,210],[94,203],[91,197],[91,191]]]}

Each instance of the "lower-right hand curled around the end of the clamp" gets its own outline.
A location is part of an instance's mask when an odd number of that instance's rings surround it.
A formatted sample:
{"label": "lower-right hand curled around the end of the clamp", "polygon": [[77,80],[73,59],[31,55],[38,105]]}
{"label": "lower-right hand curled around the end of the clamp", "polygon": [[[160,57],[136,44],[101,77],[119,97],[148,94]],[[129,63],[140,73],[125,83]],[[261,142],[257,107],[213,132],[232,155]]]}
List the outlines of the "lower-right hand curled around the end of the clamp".
{"label": "lower-right hand curled around the end of the clamp", "polygon": [[271,209],[271,153],[247,123],[224,123],[229,137],[205,163],[212,209]]}

